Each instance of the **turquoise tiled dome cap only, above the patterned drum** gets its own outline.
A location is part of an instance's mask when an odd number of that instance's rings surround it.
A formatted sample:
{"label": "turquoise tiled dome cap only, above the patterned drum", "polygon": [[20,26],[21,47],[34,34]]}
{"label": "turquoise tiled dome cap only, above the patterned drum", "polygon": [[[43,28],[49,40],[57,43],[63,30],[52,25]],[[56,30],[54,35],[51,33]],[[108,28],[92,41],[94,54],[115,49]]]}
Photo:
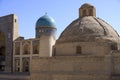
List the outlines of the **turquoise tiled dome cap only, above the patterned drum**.
{"label": "turquoise tiled dome cap only, above the patterned drum", "polygon": [[36,27],[53,27],[55,28],[55,21],[52,17],[45,14],[44,16],[40,17],[36,22]]}

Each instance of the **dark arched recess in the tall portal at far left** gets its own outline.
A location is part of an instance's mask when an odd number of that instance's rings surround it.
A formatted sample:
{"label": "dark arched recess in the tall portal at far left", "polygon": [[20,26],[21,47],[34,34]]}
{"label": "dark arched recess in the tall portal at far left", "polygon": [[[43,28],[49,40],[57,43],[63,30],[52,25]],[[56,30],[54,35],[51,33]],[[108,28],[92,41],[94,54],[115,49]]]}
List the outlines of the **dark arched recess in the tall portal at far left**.
{"label": "dark arched recess in the tall portal at far left", "polygon": [[0,71],[5,70],[5,35],[0,31]]}

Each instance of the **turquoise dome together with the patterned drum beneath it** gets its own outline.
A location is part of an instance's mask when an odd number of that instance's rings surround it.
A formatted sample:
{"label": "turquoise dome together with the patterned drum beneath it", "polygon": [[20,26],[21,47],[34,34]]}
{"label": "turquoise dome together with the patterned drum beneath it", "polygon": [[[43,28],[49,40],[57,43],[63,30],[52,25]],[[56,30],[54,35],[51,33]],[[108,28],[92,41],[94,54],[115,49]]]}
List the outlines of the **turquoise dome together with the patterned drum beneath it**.
{"label": "turquoise dome together with the patterned drum beneath it", "polygon": [[41,36],[56,36],[56,24],[52,17],[45,14],[36,22],[36,38]]}

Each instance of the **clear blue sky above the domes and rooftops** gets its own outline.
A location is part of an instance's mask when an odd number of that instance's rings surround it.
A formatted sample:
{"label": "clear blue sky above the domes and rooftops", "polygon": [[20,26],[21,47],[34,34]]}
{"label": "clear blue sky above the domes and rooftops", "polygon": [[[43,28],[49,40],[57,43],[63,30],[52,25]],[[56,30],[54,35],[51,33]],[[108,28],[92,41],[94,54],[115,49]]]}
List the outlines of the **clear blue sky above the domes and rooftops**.
{"label": "clear blue sky above the domes and rooftops", "polygon": [[120,0],[0,0],[0,16],[16,14],[19,34],[35,37],[35,24],[46,12],[57,24],[57,37],[76,18],[84,3],[96,7],[97,17],[109,23],[120,34]]}

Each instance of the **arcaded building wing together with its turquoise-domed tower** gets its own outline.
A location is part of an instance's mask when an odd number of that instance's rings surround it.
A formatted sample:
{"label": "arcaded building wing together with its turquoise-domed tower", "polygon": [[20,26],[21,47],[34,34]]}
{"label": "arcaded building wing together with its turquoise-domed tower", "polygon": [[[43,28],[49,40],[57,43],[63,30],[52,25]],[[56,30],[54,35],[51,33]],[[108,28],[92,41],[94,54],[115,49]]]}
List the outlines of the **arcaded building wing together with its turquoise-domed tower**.
{"label": "arcaded building wing together with its turquoise-domed tower", "polygon": [[36,22],[36,37],[19,37],[13,46],[13,71],[30,72],[34,57],[51,57],[52,47],[56,42],[56,25],[52,17],[45,14]]}

